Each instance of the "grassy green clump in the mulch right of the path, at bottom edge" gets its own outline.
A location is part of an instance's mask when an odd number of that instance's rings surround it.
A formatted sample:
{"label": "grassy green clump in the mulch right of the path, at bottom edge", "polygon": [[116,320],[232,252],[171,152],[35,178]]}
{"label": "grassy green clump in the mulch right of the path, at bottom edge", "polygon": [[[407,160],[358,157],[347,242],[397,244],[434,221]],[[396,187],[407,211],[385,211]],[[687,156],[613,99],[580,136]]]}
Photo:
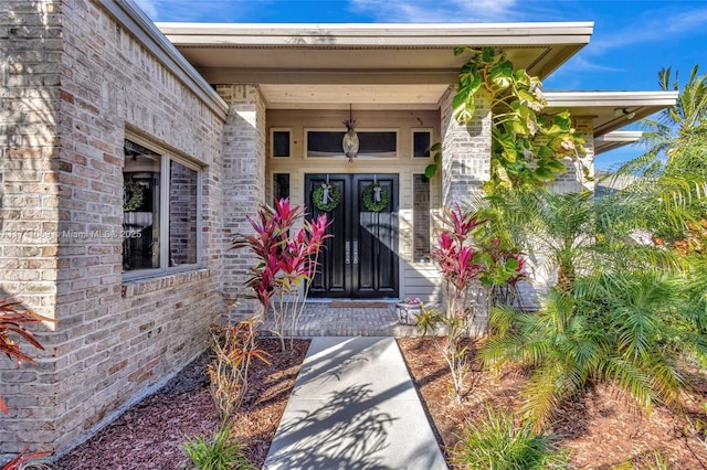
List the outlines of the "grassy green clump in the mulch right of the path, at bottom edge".
{"label": "grassy green clump in the mulch right of the path, at bottom edge", "polygon": [[551,436],[536,434],[514,415],[486,407],[487,417],[462,430],[453,462],[466,469],[570,469],[569,453],[557,449]]}

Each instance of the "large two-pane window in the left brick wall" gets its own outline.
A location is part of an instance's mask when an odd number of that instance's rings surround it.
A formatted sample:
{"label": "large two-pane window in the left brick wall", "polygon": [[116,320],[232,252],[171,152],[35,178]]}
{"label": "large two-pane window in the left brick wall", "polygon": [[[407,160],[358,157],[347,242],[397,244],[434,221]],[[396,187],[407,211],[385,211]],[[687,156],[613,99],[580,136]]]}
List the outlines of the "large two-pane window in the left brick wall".
{"label": "large two-pane window in the left brick wall", "polygon": [[134,140],[125,140],[124,152],[124,274],[141,277],[197,267],[199,169]]}

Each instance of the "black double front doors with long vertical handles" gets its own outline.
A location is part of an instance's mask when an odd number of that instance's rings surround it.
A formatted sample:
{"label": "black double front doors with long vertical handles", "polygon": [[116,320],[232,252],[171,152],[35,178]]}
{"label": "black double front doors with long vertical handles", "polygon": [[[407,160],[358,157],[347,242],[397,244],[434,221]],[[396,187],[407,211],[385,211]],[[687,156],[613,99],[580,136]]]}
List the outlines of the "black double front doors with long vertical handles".
{"label": "black double front doors with long vertical handles", "polygon": [[[313,193],[327,183],[339,191],[340,201],[333,211],[323,212],[315,206]],[[380,211],[363,203],[363,192],[372,184],[388,194],[388,204]],[[319,255],[309,296],[398,297],[398,175],[307,174],[305,200],[310,216],[327,215],[328,233],[334,235]]]}

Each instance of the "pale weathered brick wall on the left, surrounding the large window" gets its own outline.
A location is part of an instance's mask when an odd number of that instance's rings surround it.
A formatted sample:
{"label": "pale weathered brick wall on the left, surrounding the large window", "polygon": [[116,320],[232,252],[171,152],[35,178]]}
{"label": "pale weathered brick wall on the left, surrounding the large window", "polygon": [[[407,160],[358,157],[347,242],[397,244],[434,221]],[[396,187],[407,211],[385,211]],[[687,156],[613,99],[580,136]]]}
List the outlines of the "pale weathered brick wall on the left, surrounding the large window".
{"label": "pale weathered brick wall on the left, surrounding the large window", "polygon": [[[223,116],[103,2],[0,12],[0,288],[57,320],[36,366],[0,362],[0,456],[62,452],[208,345],[223,312]],[[123,282],[126,129],[203,165],[203,269]]]}

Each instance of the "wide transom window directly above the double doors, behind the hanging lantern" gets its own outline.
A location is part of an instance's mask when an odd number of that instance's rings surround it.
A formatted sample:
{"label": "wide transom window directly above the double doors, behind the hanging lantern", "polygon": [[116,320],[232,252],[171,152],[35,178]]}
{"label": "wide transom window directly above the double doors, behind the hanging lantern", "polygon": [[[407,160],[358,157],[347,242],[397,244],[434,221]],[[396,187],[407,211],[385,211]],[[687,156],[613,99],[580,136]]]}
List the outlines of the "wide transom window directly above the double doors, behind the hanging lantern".
{"label": "wide transom window directly above the double doors, behind the hanging lantern", "polygon": [[[307,130],[307,157],[344,157],[341,141],[345,130]],[[394,158],[398,156],[398,132],[394,130],[356,131],[358,157]]]}

